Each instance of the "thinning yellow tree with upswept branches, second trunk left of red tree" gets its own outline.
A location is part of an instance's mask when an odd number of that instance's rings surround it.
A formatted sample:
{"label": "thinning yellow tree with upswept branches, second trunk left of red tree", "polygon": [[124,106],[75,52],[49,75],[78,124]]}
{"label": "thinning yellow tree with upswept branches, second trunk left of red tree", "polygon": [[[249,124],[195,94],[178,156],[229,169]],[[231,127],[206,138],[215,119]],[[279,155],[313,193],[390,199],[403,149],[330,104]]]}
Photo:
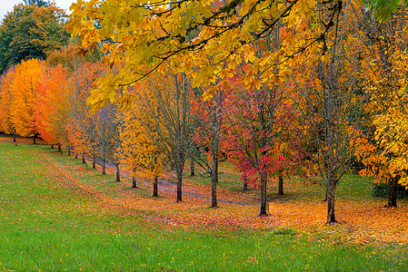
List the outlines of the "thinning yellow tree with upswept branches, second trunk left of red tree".
{"label": "thinning yellow tree with upswept branches, second trunk left of red tree", "polygon": [[154,73],[138,87],[134,93],[144,105],[139,112],[141,124],[174,167],[176,201],[182,201],[184,162],[191,147],[193,132],[190,79],[184,73]]}

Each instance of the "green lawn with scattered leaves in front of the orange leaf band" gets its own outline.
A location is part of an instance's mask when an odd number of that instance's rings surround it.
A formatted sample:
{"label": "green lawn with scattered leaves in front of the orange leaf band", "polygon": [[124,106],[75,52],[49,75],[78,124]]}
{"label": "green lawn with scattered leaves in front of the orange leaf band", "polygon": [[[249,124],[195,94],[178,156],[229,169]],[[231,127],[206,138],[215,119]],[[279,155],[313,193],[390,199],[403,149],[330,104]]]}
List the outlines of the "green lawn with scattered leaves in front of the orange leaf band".
{"label": "green lawn with scattered leaves in front of the orange leaf band", "polygon": [[130,208],[132,195],[155,200],[121,186],[49,146],[0,141],[0,271],[408,271],[401,241],[353,243],[335,226],[185,228],[172,211]]}

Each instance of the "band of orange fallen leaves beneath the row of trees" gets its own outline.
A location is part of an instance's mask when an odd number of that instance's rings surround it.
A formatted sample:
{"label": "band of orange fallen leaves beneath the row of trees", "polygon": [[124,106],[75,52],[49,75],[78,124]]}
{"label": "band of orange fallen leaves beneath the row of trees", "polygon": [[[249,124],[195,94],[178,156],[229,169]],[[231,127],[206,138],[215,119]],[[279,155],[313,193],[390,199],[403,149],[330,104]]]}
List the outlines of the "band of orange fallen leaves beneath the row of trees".
{"label": "band of orange fallen leaves beneath the row of trees", "polygon": [[[301,180],[288,180],[285,184],[287,196],[279,198],[271,195],[270,216],[259,218],[257,192],[244,193],[220,188],[218,198],[220,207],[209,209],[211,191],[209,186],[185,178],[184,201],[175,202],[175,183],[161,182],[160,198],[151,198],[147,182],[139,182],[140,190],[130,189],[131,180],[121,183],[81,179],[75,173],[82,173],[85,178],[90,169],[81,163],[65,166],[60,157],[55,158],[55,151],[42,150],[39,160],[53,165],[52,175],[60,180],[60,185],[77,187],[93,198],[98,199],[109,211],[131,212],[132,210],[154,210],[160,214],[166,226],[185,228],[296,228],[307,233],[319,230],[338,236],[342,241],[353,243],[401,242],[408,241],[408,206],[400,201],[399,208],[384,208],[386,199],[370,197],[371,182],[356,176],[346,177],[338,190],[336,213],[339,224],[325,226],[326,203],[323,189],[319,185],[303,183]],[[62,160],[65,160],[62,159]],[[231,170],[224,169],[224,172]],[[113,173],[113,170],[110,170]],[[95,175],[95,172],[92,172]],[[97,175],[97,174],[96,174]],[[230,178],[232,179],[232,178]],[[223,182],[223,180],[221,180]],[[235,179],[234,182],[239,182]],[[274,183],[274,182],[271,182]],[[362,184],[359,184],[362,183]],[[274,184],[273,184],[274,185]],[[360,187],[360,188],[359,188]],[[365,188],[364,188],[365,187]],[[272,194],[276,191],[270,186]],[[307,193],[307,191],[309,191]],[[102,204],[103,203],[103,204]]]}

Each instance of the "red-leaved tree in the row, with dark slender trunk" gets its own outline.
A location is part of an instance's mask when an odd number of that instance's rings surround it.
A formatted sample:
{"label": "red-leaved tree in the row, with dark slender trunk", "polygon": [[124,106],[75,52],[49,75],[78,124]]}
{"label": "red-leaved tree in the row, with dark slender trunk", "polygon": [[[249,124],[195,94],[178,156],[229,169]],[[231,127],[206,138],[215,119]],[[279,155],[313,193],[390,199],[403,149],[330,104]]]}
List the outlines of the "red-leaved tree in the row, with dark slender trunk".
{"label": "red-leaved tree in the row, with dark slender trunk", "polygon": [[278,177],[283,182],[284,176],[299,174],[305,164],[303,134],[296,131],[300,112],[292,101],[294,95],[287,83],[251,90],[236,84],[226,95],[224,151],[242,172],[242,179],[260,188],[260,216],[268,212],[268,180]]}

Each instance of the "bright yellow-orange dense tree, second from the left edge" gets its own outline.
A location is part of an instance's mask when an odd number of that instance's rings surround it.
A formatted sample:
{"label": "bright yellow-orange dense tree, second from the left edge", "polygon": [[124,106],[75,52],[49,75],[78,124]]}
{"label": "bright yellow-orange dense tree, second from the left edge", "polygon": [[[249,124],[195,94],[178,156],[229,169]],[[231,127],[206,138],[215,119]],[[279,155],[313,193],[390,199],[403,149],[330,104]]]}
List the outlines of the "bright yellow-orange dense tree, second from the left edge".
{"label": "bright yellow-orange dense tree, second from the left edge", "polygon": [[14,94],[12,121],[15,131],[22,137],[33,137],[35,143],[35,99],[38,80],[43,78],[45,64],[37,59],[15,65],[15,76],[11,84]]}

